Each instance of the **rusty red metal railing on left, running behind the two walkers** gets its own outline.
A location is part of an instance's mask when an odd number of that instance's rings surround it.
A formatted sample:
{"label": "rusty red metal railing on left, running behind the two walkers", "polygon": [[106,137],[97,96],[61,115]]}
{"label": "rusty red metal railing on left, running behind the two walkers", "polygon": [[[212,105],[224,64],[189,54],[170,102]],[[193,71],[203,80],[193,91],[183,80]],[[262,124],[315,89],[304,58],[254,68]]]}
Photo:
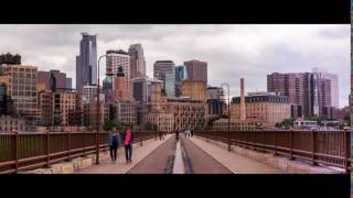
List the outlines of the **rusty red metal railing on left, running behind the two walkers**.
{"label": "rusty red metal railing on left, running behind the two walkers", "polygon": [[[157,139],[156,132],[135,132],[133,143]],[[107,132],[99,133],[100,151],[108,148]],[[96,152],[95,132],[0,133],[0,174],[18,173]]]}

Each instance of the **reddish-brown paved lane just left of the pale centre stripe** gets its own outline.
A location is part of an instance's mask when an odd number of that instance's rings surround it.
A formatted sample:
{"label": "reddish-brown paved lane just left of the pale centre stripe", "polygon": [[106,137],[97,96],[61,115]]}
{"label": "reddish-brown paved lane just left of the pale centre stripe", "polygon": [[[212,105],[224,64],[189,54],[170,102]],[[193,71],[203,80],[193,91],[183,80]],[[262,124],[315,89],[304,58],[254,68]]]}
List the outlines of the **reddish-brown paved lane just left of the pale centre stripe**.
{"label": "reddish-brown paved lane just left of the pale centre stripe", "polygon": [[127,174],[165,174],[172,169],[170,162],[174,155],[174,135],[158,146],[140,163],[132,167]]}

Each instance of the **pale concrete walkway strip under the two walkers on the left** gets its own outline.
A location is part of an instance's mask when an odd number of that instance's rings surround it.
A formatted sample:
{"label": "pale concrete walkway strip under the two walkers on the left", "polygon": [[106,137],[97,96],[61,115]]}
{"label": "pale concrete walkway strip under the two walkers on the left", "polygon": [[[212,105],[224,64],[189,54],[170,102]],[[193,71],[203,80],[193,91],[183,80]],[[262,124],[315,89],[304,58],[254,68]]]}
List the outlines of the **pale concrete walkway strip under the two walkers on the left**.
{"label": "pale concrete walkway strip under the two walkers on the left", "polygon": [[120,147],[118,151],[118,158],[116,163],[111,163],[110,158],[101,162],[99,165],[92,165],[74,174],[126,174],[129,169],[131,169],[135,165],[141,162],[146,156],[152,153],[157,147],[168,141],[171,134],[165,136],[165,140],[152,142],[145,142],[142,146],[133,147],[132,150],[132,163],[127,164],[125,160],[125,151],[124,147]]}

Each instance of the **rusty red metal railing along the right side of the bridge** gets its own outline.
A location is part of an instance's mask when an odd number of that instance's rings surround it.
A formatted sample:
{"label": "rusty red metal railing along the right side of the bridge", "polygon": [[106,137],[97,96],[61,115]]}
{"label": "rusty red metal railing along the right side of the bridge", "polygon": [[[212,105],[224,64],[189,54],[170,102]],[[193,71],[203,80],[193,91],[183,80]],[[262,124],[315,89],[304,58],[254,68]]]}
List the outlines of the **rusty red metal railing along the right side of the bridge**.
{"label": "rusty red metal railing along the right side of the bridge", "polygon": [[301,160],[351,169],[350,130],[195,131],[195,135]]}

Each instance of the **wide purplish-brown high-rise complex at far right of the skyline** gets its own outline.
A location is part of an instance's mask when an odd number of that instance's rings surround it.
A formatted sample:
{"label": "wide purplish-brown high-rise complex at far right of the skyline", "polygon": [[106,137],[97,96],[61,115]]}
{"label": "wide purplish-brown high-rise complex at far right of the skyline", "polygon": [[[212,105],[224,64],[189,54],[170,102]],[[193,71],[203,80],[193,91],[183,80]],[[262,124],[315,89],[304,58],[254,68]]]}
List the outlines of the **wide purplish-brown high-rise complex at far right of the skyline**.
{"label": "wide purplish-brown high-rise complex at far right of the skyline", "polygon": [[292,117],[321,117],[324,108],[334,107],[332,90],[339,89],[336,81],[336,76],[329,73],[274,73],[267,75],[267,90],[289,97],[292,112],[297,112]]}

